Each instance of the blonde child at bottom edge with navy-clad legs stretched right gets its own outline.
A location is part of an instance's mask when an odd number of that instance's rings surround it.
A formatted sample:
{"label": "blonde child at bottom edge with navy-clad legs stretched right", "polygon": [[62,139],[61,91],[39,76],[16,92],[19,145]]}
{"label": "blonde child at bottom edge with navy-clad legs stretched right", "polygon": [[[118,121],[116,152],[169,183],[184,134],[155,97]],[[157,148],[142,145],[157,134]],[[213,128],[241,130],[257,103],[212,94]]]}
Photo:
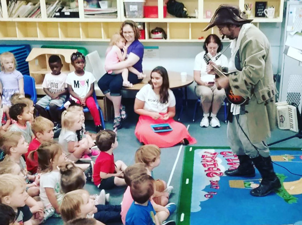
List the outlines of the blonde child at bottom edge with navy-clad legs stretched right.
{"label": "blonde child at bottom edge with navy-clad legs stretched right", "polygon": [[84,189],[66,193],[60,210],[65,222],[79,217],[95,218],[102,223],[120,222],[120,205],[95,205]]}

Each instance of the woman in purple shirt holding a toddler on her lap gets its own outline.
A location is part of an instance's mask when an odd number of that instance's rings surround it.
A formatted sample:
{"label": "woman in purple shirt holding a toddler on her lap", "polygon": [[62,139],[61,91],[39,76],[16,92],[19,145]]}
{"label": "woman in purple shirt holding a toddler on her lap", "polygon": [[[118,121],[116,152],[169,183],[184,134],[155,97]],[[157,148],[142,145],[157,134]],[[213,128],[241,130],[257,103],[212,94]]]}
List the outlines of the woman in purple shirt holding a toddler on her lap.
{"label": "woman in purple shirt holding a toddler on her lap", "polygon": [[[126,60],[116,64],[108,66],[108,70],[121,70],[128,67],[134,67],[139,72],[143,72],[143,55],[144,46],[140,41],[140,31],[135,22],[132,20],[126,20],[120,29],[120,35],[123,36],[127,43],[127,57]],[[137,75],[129,71],[128,80],[130,83],[136,84],[142,81],[138,79]],[[125,112],[125,106],[121,105],[121,89],[123,87],[123,78],[121,74],[108,74],[105,73],[103,77],[98,81],[98,86],[104,95],[112,101],[114,107],[114,128],[121,126],[121,120],[126,119],[127,114]]]}

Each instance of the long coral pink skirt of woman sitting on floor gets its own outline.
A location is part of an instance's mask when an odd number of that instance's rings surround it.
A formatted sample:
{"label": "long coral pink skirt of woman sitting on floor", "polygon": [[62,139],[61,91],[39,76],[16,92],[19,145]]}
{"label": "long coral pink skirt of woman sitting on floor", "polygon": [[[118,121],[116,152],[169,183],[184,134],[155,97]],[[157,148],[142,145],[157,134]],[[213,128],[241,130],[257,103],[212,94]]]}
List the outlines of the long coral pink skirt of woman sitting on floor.
{"label": "long coral pink skirt of woman sitting on floor", "polygon": [[[172,131],[156,133],[152,130],[151,124],[169,123]],[[150,116],[140,116],[135,131],[135,136],[145,145],[153,144],[159,148],[169,148],[180,143],[183,139],[187,139],[189,144],[195,144],[196,139],[191,137],[185,125],[176,122],[173,118],[168,120],[152,119]]]}

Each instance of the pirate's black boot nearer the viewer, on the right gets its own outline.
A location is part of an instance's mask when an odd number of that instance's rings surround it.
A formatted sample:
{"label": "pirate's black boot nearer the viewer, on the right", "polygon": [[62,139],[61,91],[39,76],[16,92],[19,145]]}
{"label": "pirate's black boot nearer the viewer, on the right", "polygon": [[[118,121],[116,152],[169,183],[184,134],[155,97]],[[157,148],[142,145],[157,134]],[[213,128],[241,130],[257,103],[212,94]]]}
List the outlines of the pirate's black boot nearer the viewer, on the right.
{"label": "pirate's black boot nearer the viewer, on the right", "polygon": [[262,177],[260,186],[250,192],[252,196],[262,197],[281,188],[280,180],[274,172],[270,156],[262,157],[260,155],[256,158],[252,158],[252,161]]}

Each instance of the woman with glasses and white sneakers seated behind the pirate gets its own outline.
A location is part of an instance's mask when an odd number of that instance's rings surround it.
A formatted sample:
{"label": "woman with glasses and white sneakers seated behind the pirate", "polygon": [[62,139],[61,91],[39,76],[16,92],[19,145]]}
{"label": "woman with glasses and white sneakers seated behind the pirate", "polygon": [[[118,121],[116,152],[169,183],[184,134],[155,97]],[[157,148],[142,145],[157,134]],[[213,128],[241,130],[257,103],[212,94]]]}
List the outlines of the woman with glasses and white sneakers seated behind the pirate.
{"label": "woman with glasses and white sneakers seated behind the pirate", "polygon": [[[215,85],[215,75],[208,74],[207,63],[204,60],[204,54],[207,54],[216,65],[228,67],[228,60],[225,55],[220,54],[223,45],[216,34],[210,34],[204,41],[204,50],[196,55],[194,63],[194,80],[197,83],[195,86],[195,94],[201,99],[201,107],[204,112],[200,126],[220,127],[220,122],[216,115],[219,111],[223,100],[226,97],[224,89],[218,90]],[[217,57],[219,58],[217,59]],[[210,107],[212,106],[211,121]]]}

